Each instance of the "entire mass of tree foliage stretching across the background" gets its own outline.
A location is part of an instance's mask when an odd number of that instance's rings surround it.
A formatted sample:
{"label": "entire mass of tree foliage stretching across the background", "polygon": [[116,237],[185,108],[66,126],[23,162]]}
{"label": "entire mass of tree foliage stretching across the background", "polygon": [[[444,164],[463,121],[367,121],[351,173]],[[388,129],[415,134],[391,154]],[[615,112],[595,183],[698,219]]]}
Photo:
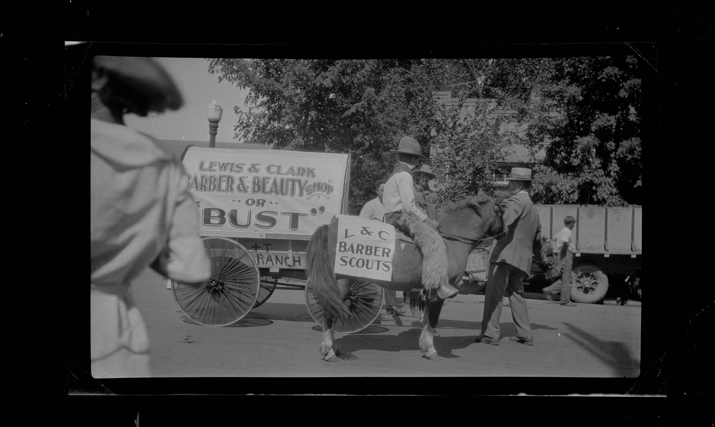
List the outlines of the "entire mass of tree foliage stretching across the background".
{"label": "entire mass of tree foliage stretching across the background", "polygon": [[[641,81],[625,58],[209,59],[209,72],[250,89],[235,136],[277,149],[350,153],[350,213],[375,197],[389,150],[415,137],[438,174],[440,199],[492,191],[508,141],[546,149],[533,166],[534,201],[641,204]],[[484,98],[464,114],[434,91]],[[499,133],[503,116],[525,131]],[[430,153],[430,149],[432,152]]]}

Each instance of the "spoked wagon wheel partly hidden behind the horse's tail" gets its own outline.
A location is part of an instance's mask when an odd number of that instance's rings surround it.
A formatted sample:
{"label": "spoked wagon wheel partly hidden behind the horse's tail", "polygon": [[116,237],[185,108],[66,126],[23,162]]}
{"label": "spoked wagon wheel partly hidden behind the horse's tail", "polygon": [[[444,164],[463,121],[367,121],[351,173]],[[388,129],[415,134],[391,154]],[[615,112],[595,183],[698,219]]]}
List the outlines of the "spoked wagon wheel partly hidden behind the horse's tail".
{"label": "spoked wagon wheel partly hidden behind the horse's tail", "polygon": [[[350,317],[345,321],[333,323],[332,330],[344,333],[362,331],[380,316],[380,310],[383,308],[383,288],[375,283],[353,281],[342,302],[350,311]],[[313,320],[322,326],[322,308],[313,295],[310,282],[305,285],[305,305]]]}

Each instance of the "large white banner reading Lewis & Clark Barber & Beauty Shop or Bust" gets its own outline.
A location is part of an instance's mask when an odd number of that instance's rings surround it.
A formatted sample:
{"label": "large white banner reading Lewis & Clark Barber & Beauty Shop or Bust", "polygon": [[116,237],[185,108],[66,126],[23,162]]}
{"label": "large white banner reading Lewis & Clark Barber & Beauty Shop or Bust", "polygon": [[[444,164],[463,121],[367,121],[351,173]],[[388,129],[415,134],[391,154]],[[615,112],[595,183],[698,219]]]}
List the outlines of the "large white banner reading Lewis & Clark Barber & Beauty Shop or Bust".
{"label": "large white banner reading Lewis & Clark Barber & Beauty Shop or Bust", "polygon": [[347,211],[348,154],[193,146],[183,164],[202,236],[307,240]]}

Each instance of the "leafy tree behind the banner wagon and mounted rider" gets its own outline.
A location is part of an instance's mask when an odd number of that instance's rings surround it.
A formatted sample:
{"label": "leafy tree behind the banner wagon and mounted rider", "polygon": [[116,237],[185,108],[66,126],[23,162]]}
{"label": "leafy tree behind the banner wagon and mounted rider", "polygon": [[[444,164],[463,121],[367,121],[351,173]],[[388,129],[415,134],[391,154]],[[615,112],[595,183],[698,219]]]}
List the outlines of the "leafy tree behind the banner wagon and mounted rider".
{"label": "leafy tree behind the banner wagon and mounted rider", "polygon": [[[480,111],[460,119],[433,96],[464,79],[465,67],[449,59],[209,59],[219,81],[250,89],[247,110],[234,107],[236,137],[277,149],[351,154],[353,214],[375,196],[374,182],[392,170],[389,150],[404,135],[417,139],[425,154],[435,147],[431,161],[448,199],[488,184],[485,168],[499,156],[488,144],[496,138],[488,126],[493,120],[480,121]],[[480,143],[471,146],[475,132]],[[458,184],[460,174],[466,184]]]}

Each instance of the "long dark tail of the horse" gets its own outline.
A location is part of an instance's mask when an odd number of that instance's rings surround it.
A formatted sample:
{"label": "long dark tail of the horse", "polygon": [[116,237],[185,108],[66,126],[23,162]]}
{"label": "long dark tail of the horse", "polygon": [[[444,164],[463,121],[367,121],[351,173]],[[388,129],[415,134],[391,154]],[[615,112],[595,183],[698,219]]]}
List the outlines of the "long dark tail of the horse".
{"label": "long dark tail of the horse", "polygon": [[305,249],[305,273],[315,299],[320,304],[325,316],[332,319],[344,319],[350,316],[350,311],[342,303],[340,288],[335,282],[327,251],[327,225],[315,230]]}

